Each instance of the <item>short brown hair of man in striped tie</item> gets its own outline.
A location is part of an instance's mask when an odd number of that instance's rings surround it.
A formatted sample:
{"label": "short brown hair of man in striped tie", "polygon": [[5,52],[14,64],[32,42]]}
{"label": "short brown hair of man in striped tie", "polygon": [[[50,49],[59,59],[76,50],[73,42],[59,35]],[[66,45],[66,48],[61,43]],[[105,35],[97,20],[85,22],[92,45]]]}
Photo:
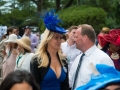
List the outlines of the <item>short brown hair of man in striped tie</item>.
{"label": "short brown hair of man in striped tie", "polygon": [[81,27],[81,34],[82,35],[87,35],[88,38],[93,42],[95,43],[95,38],[96,38],[96,34],[95,34],[95,31],[93,29],[93,27],[91,25],[88,25],[88,24],[82,24],[82,25],[79,25],[78,28]]}

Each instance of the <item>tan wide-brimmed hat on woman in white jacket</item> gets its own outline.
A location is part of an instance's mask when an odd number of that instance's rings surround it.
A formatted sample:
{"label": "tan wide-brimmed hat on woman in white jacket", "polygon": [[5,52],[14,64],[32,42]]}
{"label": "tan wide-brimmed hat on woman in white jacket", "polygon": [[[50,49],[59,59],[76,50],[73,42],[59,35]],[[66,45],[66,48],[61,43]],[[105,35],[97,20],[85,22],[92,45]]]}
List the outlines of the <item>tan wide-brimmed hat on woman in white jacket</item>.
{"label": "tan wide-brimmed hat on woman in white jacket", "polygon": [[20,45],[21,47],[31,51],[31,48],[30,48],[31,41],[30,41],[30,39],[28,37],[25,36],[25,37],[22,37],[21,39],[17,39],[16,43],[18,45]]}

